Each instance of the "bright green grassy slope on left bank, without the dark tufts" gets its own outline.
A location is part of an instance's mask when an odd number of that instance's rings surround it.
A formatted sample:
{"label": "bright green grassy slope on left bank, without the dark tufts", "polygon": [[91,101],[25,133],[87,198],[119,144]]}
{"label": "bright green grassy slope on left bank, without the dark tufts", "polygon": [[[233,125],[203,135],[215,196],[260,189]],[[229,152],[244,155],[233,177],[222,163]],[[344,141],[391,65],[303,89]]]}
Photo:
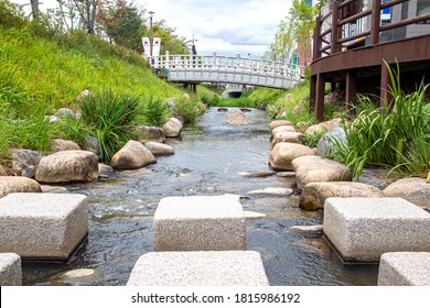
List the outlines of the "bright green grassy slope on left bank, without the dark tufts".
{"label": "bright green grassy slope on left bank, without the dark tufts", "polygon": [[[0,161],[9,157],[11,147],[47,152],[55,138],[71,138],[69,127],[50,125],[44,117],[62,107],[78,111],[76,98],[84,89],[139,96],[141,103],[149,97],[182,96],[151,74],[144,62],[130,64],[127,53],[109,54],[107,43],[76,41],[62,46],[26,28],[0,26]],[[72,133],[75,141],[86,133],[79,130]]]}

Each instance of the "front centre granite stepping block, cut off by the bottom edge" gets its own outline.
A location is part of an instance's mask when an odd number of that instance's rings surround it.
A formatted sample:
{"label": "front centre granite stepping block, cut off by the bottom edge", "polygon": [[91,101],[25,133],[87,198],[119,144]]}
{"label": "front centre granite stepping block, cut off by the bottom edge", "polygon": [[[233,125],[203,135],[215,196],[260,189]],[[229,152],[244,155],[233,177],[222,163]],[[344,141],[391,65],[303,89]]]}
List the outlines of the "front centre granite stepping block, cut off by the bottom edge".
{"label": "front centre granite stepping block, cut off by the bottom edge", "polygon": [[255,251],[152,252],[135,264],[128,286],[268,286]]}

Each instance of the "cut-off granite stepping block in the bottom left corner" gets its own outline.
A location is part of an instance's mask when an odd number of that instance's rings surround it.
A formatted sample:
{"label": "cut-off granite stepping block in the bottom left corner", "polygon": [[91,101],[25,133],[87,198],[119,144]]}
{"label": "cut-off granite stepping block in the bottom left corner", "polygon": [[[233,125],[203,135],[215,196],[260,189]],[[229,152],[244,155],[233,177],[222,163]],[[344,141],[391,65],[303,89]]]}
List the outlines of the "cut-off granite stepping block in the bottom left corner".
{"label": "cut-off granite stepping block in the bottom left corner", "polygon": [[21,285],[21,257],[15,253],[0,253],[0,286]]}

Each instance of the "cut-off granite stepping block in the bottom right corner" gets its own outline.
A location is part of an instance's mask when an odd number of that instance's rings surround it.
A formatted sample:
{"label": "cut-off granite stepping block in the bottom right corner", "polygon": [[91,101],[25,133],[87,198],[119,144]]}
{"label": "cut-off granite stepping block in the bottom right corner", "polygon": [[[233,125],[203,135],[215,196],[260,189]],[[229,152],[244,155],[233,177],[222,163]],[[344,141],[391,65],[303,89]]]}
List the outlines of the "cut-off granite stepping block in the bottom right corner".
{"label": "cut-off granite stepping block in the bottom right corner", "polygon": [[383,254],[378,286],[430,286],[430,252]]}

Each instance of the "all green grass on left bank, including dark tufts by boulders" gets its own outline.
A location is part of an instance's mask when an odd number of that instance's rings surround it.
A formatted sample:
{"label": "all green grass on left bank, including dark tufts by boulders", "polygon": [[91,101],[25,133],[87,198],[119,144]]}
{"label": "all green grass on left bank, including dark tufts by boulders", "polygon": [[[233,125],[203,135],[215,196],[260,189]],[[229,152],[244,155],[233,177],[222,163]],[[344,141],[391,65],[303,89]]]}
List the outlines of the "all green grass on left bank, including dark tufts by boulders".
{"label": "all green grass on left bank, including dark tufts by boulders", "polygon": [[[87,134],[100,139],[104,160],[108,161],[123,143],[120,139],[130,138],[130,125],[146,123],[146,108],[152,109],[152,113],[160,112],[154,111],[154,106],[149,106],[148,100],[160,102],[172,97],[181,99],[184,94],[153,75],[140,55],[82,32],[55,33],[44,23],[28,21],[11,7],[8,1],[0,2],[1,161],[9,160],[8,150],[11,147],[47,153],[55,138],[74,140],[84,145]],[[98,114],[98,111],[82,110],[83,121],[63,119],[50,124],[45,120],[45,116],[63,107],[77,112],[82,108],[88,109],[76,99],[85,89],[97,94],[99,99],[107,92],[104,89],[109,89],[114,100],[120,100],[123,96],[132,100],[139,98],[136,99],[139,117],[136,117],[136,121],[119,125],[109,123],[112,121],[109,117],[114,114],[92,119],[90,114]],[[112,112],[123,111],[120,106],[115,108],[117,110]],[[180,109],[190,122],[202,111],[197,96],[193,95],[190,102],[181,103]],[[161,113],[155,114],[155,118],[147,122],[161,125],[166,119]],[[122,125],[127,130],[118,132],[117,129]]]}

